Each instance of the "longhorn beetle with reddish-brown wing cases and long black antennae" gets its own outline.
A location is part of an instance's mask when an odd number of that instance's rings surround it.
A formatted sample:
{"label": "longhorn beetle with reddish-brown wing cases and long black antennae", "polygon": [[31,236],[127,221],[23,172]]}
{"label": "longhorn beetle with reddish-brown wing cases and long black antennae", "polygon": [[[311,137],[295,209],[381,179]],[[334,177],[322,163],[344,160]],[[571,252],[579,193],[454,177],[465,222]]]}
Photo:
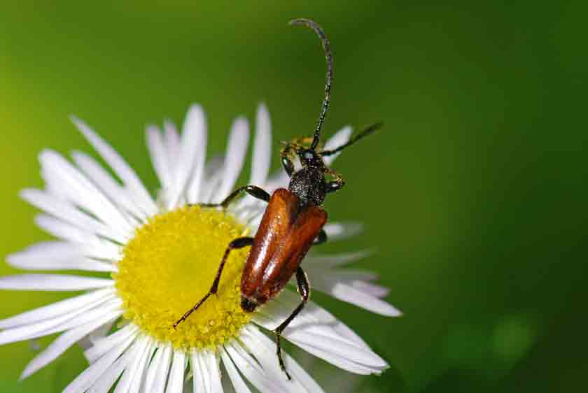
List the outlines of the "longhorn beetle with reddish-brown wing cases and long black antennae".
{"label": "longhorn beetle with reddish-brown wing cases and long black antennae", "polygon": [[[308,19],[295,19],[291,20],[290,24],[303,25],[313,29],[321,38],[327,59],[325,99],[321,108],[321,115],[318,117],[318,123],[314,130],[314,136],[290,142],[281,151],[281,164],[288,176],[290,176],[288,190],[279,188],[270,197],[260,187],[246,185],[232,192],[221,203],[205,203],[201,205],[207,208],[227,208],[229,203],[241,192],[247,192],[252,197],[267,202],[267,208],[255,237],[236,238],[229,243],[209,292],[174,324],[174,329],[176,329],[211,294],[216,294],[223,267],[231,250],[251,246],[243,276],[241,276],[241,308],[246,313],[253,313],[256,308],[277,296],[293,274],[296,273],[298,293],[302,301],[293,310],[292,314],[273,331],[276,336],[278,361],[288,379],[290,379],[290,375],[286,371],[286,366],[284,366],[281,356],[281,334],[304,308],[304,303],[310,297],[310,284],[306,273],[300,266],[300,262],[302,262],[311,245],[324,243],[327,240],[327,234],[323,229],[327,221],[327,213],[321,208],[321,205],[326,194],[341,190],[345,184],[339,174],[325,166],[323,157],[340,152],[381,127],[381,123],[373,124],[344,145],[332,150],[317,151],[318,142],[321,138],[321,128],[329,106],[332,82],[332,54],[329,41],[323,29],[316,22]],[[298,157],[300,164],[302,164],[302,169],[299,171],[294,169],[292,160],[295,157]],[[332,180],[325,180],[325,174],[332,176]]]}

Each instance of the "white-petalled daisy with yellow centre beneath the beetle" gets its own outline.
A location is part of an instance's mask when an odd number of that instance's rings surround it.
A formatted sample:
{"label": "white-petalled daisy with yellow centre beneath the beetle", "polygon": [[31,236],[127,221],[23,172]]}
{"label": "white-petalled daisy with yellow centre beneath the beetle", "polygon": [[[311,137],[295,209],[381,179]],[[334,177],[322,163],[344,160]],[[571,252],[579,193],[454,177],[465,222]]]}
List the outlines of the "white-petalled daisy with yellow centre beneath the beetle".
{"label": "white-petalled daisy with yellow centre beneath the beetle", "polygon": [[[235,187],[248,146],[248,122],[232,124],[225,157],[205,159],[207,124],[200,106],[188,111],[181,134],[171,122],[148,127],[147,145],[161,190],[154,198],[137,173],[90,127],[73,123],[116,178],[83,152],[70,162],[52,150],[39,156],[45,190],[23,190],[25,201],[43,210],[35,219],[57,238],[7,257],[11,266],[29,271],[102,272],[87,275],[29,273],[0,278],[3,290],[83,291],[57,303],[0,320],[0,344],[59,333],[26,366],[27,378],[76,343],[85,345],[90,366],[66,393],[223,392],[230,380],[238,393],[322,392],[290,356],[287,380],[267,331],[277,327],[299,303],[291,287],[253,314],[239,307],[239,282],[247,251],[232,252],[218,288],[209,301],[177,330],[172,325],[209,290],[228,243],[255,234],[265,206],[251,197],[228,210],[198,203],[223,200]],[[349,140],[339,131],[325,145]],[[283,171],[268,177],[271,131],[265,106],[258,109],[251,178],[248,184],[268,192],[287,187]],[[335,157],[326,157],[331,164]],[[352,236],[357,224],[328,224],[330,240]],[[382,301],[384,287],[373,273],[339,269],[363,252],[304,259],[314,289],[374,313],[395,316]],[[388,364],[349,327],[309,301],[283,337],[315,357],[357,374],[379,374]],[[227,379],[228,378],[228,379]],[[225,386],[229,386],[225,382]],[[189,389],[192,390],[192,389]]]}

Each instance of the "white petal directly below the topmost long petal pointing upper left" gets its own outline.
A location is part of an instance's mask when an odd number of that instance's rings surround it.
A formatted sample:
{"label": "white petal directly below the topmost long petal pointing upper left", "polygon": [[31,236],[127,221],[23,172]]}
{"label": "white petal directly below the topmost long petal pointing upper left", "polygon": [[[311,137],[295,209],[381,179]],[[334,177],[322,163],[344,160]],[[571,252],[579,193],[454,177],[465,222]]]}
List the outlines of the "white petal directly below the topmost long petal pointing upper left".
{"label": "white petal directly below the topmost long petal pointing upper left", "polygon": [[114,180],[95,159],[77,151],[74,151],[71,156],[73,157],[73,162],[76,162],[76,165],[104,192],[106,197],[116,203],[119,208],[130,213],[134,220],[146,220],[147,213],[137,206],[132,195],[117,180]]}

